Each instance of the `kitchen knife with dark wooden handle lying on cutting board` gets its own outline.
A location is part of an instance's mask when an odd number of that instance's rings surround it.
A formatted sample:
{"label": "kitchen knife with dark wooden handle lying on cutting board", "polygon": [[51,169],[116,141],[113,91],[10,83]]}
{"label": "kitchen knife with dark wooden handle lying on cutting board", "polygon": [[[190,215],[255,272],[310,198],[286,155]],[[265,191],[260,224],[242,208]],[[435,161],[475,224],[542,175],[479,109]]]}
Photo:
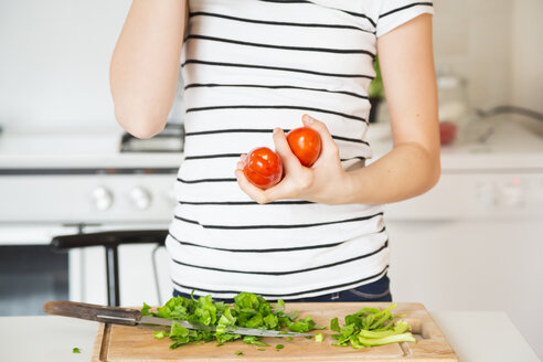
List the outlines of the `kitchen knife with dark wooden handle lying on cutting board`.
{"label": "kitchen knife with dark wooden handle lying on cutting board", "polygon": [[[160,324],[171,326],[179,323],[188,329],[198,329],[204,331],[214,331],[214,326],[205,326],[202,323],[189,322],[185,320],[172,320],[166,318],[141,316],[137,309],[120,308],[120,307],[104,307],[97,305],[88,305],[84,302],[74,302],[65,300],[46,301],[43,305],[43,311],[49,315],[72,317],[79,319],[94,320],[104,323],[136,326],[136,324]],[[296,333],[287,331],[272,331],[257,328],[225,328],[226,333],[259,336],[259,337],[315,337],[311,333]]]}

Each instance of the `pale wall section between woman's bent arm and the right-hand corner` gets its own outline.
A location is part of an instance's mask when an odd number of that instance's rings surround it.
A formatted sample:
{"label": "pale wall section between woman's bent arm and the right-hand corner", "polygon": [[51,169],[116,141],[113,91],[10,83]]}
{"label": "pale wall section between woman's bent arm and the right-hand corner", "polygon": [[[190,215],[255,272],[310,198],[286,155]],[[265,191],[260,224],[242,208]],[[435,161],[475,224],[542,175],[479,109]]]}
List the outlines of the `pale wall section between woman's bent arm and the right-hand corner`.
{"label": "pale wall section between woman's bent arm and the right-hand corner", "polygon": [[513,0],[434,0],[434,4],[437,71],[450,68],[467,79],[472,107],[509,104]]}

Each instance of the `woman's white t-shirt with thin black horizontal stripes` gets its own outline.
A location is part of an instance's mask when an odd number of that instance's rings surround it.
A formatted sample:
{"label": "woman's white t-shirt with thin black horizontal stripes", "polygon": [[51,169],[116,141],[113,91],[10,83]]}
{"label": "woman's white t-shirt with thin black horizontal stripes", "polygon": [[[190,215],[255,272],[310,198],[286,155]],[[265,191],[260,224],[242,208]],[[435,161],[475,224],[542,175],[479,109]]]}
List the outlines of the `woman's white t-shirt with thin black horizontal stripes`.
{"label": "woman's white t-shirt with thin black horizontal stripes", "polygon": [[380,205],[259,205],[234,177],[272,130],[326,123],[345,169],[364,140],[376,39],[426,12],[411,0],[190,0],[181,66],[184,161],[167,247],[175,289],[294,299],[372,283],[388,268]]}

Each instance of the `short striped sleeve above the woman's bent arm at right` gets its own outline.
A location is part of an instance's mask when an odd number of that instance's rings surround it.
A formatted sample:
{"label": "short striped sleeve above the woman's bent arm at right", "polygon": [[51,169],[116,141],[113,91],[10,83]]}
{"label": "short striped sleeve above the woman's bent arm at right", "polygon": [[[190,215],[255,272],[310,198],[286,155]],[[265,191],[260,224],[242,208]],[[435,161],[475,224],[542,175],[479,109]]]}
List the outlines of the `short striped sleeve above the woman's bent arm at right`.
{"label": "short striped sleeve above the woman's bent arm at right", "polygon": [[424,13],[434,13],[432,1],[382,0],[376,35],[384,35],[391,30]]}

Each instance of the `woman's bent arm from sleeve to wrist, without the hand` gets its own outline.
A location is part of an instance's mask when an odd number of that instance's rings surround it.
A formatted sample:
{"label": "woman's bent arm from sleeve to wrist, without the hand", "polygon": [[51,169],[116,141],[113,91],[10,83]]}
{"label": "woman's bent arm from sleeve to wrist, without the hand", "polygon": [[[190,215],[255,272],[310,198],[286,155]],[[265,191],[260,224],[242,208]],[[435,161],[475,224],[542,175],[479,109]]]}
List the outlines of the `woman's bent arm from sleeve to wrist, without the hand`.
{"label": "woman's bent arm from sleeve to wrist, without the hand", "polygon": [[381,36],[377,50],[394,148],[351,172],[351,188],[360,201],[390,203],[428,191],[440,175],[432,15]]}

